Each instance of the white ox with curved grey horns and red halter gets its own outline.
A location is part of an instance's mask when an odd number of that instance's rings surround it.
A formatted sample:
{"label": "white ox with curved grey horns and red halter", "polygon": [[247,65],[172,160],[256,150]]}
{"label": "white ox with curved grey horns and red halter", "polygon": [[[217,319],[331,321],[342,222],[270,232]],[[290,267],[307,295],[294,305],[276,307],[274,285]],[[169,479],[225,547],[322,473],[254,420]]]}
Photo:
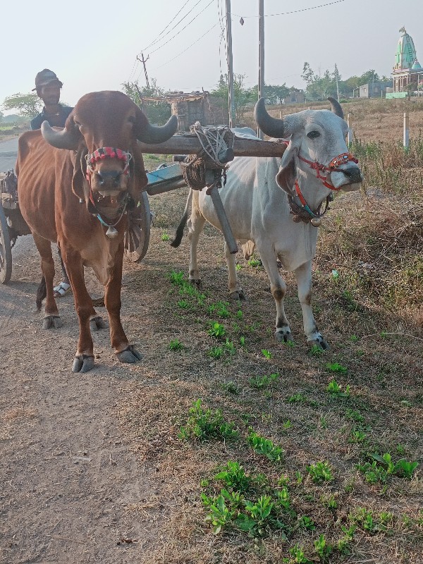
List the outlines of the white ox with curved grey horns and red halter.
{"label": "white ox with curved grey horns and red halter", "polygon": [[[228,170],[227,183],[220,190],[221,199],[231,224],[233,235],[243,245],[248,258],[255,247],[271,283],[276,302],[276,339],[291,341],[291,331],[283,307],[286,283],[278,271],[294,271],[298,283],[298,298],[302,307],[307,343],[327,348],[317,329],[312,313],[312,259],[316,253],[317,226],[326,211],[325,202],[333,190],[357,190],[362,174],[357,161],[348,153],[345,136],[348,125],[335,99],[329,98],[332,111],[306,110],[271,118],[264,100],[257,102],[255,119],[259,128],[277,139],[289,139],[282,159],[237,157]],[[254,136],[249,128],[243,128]],[[241,133],[242,135],[242,133]],[[247,134],[248,135],[248,134]],[[192,211],[188,219],[188,209]],[[172,245],[177,247],[188,219],[190,239],[190,271],[192,284],[201,287],[197,266],[197,245],[204,223],[220,228],[219,219],[206,190],[190,190],[185,214]],[[238,283],[235,255],[225,244],[228,264],[228,287],[231,298],[245,295]]]}

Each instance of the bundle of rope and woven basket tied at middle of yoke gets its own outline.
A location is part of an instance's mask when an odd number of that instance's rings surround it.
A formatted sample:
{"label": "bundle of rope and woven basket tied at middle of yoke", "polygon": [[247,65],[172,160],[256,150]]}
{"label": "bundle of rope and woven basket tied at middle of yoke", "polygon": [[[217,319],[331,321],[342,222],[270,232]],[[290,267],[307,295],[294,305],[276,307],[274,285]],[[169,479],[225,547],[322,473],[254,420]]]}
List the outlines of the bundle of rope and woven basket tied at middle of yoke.
{"label": "bundle of rope and woven basket tied at middle of yoke", "polygon": [[233,159],[233,142],[235,135],[226,125],[218,127],[202,127],[197,121],[190,126],[190,132],[197,135],[201,151],[188,155],[185,162],[180,163],[185,182],[192,190],[209,190],[226,184],[228,161]]}

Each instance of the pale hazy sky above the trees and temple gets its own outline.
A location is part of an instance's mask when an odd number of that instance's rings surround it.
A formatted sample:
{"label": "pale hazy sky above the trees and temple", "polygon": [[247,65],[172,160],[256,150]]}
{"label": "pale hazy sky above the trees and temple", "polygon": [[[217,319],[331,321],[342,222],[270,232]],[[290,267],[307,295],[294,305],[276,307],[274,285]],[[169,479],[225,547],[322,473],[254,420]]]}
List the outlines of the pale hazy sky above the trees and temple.
{"label": "pale hazy sky above the trees and temple", "polygon": [[[331,5],[317,7],[324,4]],[[245,74],[246,86],[257,84],[258,6],[231,1],[233,70]],[[0,104],[30,92],[42,68],[56,72],[70,105],[86,92],[121,90],[128,80],[145,85],[141,52],[160,87],[211,90],[227,71],[225,11],[225,0],[4,2]],[[337,64],[341,78],[371,68],[390,75],[403,26],[423,66],[422,0],[264,0],[264,13],[268,84],[305,87],[305,61],[315,73]]]}

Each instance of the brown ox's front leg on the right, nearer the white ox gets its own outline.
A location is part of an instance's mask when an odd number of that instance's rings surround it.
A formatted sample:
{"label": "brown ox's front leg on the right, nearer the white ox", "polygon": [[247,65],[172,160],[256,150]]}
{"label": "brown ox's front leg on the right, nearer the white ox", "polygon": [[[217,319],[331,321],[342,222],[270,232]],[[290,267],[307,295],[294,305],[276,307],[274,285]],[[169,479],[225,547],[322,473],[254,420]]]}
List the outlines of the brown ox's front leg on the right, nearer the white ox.
{"label": "brown ox's front leg on the right, nearer the white ox", "polygon": [[141,360],[142,357],[134,348],[134,345],[128,343],[121,323],[122,262],[123,243],[116,253],[114,269],[104,287],[104,305],[109,314],[111,346],[114,348],[118,360],[132,363]]}

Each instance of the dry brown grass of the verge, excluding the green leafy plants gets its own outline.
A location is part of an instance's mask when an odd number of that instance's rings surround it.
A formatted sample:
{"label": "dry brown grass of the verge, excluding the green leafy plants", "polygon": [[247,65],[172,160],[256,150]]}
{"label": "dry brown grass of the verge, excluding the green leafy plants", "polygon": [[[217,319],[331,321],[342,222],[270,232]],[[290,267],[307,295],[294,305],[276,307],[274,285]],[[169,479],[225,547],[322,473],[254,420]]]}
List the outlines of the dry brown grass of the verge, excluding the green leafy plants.
{"label": "dry brown grass of the verge, excluding the green leafy plants", "polygon": [[[351,104],[357,128],[360,116],[363,131],[364,123],[374,134],[378,123],[392,130],[395,112],[383,113],[384,107],[379,101],[362,109]],[[419,123],[423,109],[416,105],[415,114]],[[154,531],[143,561],[294,563],[302,561],[293,556],[297,544],[304,548],[304,562],[417,564],[421,559],[423,161],[397,151],[395,142],[386,143],[381,156],[400,176],[381,183],[375,164],[380,159],[362,154],[368,178],[362,192],[337,197],[321,228],[314,312],[331,345],[322,354],[307,350],[303,341],[290,274],[286,310],[293,348],[273,339],[274,302],[266,274],[240,256],[239,276],[249,301],[228,305],[227,318],[210,312],[210,306],[226,300],[223,243],[212,228],[206,227],[200,245],[204,298],[180,295],[181,286],[172,284],[169,274],[187,271],[188,240],[171,250],[162,235],[173,235],[186,192],[150,198],[155,222],[149,252],[142,264],[125,264],[123,288],[125,327],[147,360],[128,369],[125,400],[118,405],[122,434],[151,475],[145,498],[128,507]],[[130,304],[135,302],[133,316]],[[221,345],[207,333],[211,321],[225,327],[235,354],[210,356],[211,348]],[[182,350],[169,349],[175,339]],[[265,358],[262,350],[271,357]],[[128,370],[122,369],[124,379]],[[252,385],[257,376],[276,373],[270,384]],[[350,386],[350,395],[328,393],[333,379],[344,391]],[[199,443],[178,437],[198,398],[235,424],[238,439]],[[282,446],[281,462],[254,453],[247,443],[251,428]],[[368,482],[357,464],[372,462],[370,453],[391,453],[393,460],[416,460],[420,466],[412,479],[391,476],[386,483]],[[286,518],[286,537],[268,530],[252,538],[231,527],[213,534],[204,521],[207,510],[200,494],[219,494],[223,484],[214,475],[228,460],[240,462],[247,474],[265,474],[268,484],[250,497],[281,489],[278,479],[288,478],[297,516]],[[331,465],[334,479],[316,484],[307,465],[323,460]],[[336,507],[328,508],[331,496]],[[372,527],[360,517],[366,511]],[[298,525],[302,515],[312,518],[314,530]],[[353,524],[355,534],[345,549],[333,548],[326,560],[319,560],[314,550],[319,535],[336,546],[345,535],[343,527]]]}

